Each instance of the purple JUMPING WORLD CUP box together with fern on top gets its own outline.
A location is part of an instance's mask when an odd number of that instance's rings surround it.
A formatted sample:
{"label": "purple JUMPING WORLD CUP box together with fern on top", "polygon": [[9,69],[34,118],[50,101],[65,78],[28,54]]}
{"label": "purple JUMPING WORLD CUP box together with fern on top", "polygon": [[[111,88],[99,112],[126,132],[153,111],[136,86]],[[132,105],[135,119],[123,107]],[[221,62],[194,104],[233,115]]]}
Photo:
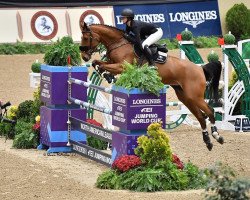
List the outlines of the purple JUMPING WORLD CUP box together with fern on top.
{"label": "purple JUMPING WORLD CUP box together with fern on top", "polygon": [[152,122],[165,126],[166,89],[157,70],[125,62],[112,90],[114,126],[131,133]]}

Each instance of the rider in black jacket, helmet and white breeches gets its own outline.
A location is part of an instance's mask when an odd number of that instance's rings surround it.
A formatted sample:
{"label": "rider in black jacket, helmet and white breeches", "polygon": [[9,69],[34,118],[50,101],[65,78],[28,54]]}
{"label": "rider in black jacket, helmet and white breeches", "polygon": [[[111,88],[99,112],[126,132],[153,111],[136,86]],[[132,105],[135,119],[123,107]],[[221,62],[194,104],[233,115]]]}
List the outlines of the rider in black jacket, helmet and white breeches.
{"label": "rider in black jacket, helmet and white breeches", "polygon": [[121,13],[122,23],[126,24],[124,37],[129,41],[138,43],[148,60],[149,66],[154,66],[155,63],[149,46],[161,39],[163,31],[155,24],[134,20],[134,16],[133,10],[129,8],[125,8]]}

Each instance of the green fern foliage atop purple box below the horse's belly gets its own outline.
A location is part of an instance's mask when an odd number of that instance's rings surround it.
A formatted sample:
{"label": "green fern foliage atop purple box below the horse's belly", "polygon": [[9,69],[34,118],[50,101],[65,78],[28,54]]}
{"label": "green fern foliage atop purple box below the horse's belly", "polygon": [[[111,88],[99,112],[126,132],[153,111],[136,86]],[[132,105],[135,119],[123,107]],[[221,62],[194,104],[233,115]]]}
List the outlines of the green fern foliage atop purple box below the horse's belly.
{"label": "green fern foliage atop purple box below the horse's belly", "polygon": [[130,64],[124,63],[124,71],[116,81],[116,86],[124,87],[128,90],[139,88],[142,91],[148,91],[159,96],[159,92],[163,89],[164,84],[158,72],[150,69],[147,64],[139,67],[136,62]]}

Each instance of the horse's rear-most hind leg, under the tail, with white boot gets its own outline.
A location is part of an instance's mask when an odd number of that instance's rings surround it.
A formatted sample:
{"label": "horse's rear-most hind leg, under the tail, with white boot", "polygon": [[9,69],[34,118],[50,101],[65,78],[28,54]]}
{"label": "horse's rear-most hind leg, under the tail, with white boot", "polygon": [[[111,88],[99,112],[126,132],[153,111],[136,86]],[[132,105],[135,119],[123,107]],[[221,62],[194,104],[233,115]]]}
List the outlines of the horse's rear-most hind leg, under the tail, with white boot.
{"label": "horse's rear-most hind leg, under the tail, with white boot", "polygon": [[212,136],[216,139],[217,142],[223,144],[224,139],[222,136],[219,135],[217,127],[215,126],[215,117],[213,109],[211,109],[203,99],[196,100],[196,105],[209,117],[209,121],[211,122]]}

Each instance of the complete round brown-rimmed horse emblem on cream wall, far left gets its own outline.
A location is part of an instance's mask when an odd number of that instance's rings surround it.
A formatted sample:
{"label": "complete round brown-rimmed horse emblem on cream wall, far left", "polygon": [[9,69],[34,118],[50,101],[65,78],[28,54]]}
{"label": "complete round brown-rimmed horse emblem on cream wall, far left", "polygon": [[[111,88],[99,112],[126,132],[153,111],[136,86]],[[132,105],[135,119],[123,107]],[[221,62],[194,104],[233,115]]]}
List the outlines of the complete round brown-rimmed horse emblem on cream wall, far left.
{"label": "complete round brown-rimmed horse emblem on cream wall, far left", "polygon": [[31,30],[37,38],[51,40],[58,31],[56,18],[47,11],[39,11],[31,19]]}

